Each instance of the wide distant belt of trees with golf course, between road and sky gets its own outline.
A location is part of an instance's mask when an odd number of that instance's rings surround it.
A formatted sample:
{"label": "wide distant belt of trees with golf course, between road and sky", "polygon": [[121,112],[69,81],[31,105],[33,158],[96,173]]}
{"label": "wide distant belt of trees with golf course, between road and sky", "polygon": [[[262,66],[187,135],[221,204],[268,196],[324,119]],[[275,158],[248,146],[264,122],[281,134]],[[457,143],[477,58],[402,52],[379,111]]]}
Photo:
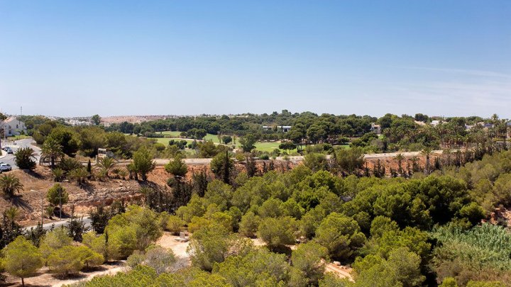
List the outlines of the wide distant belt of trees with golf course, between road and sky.
{"label": "wide distant belt of trees with golf course, between road and sky", "polygon": [[[308,145],[349,145],[363,152],[420,151],[424,148],[459,149],[493,145],[504,142],[509,123],[493,115],[492,118],[438,118],[423,114],[381,118],[370,116],[334,116],[315,113],[282,113],[270,115],[243,114],[236,116],[180,116],[143,123],[99,125],[99,116],[93,126],[65,125],[63,120],[49,120],[42,116],[22,116],[38,145],[47,138],[62,145],[62,152],[70,157],[94,157],[98,148],[108,148],[121,158],[131,158],[140,147],[150,150],[153,157],[174,157],[177,152],[186,157],[212,157],[238,144],[243,152],[254,150],[255,142],[282,141],[277,149],[258,151],[256,156],[272,157],[296,152],[303,154]],[[372,128],[378,125],[380,130]],[[267,126],[270,128],[263,128]],[[285,132],[280,126],[290,126]],[[157,141],[165,137],[163,131],[179,131],[185,140]],[[206,135],[216,135],[220,143],[202,142]],[[136,135],[136,136],[134,136]],[[190,139],[194,141],[190,141]],[[236,142],[236,139],[238,141]],[[197,141],[198,140],[198,141]],[[231,145],[229,145],[231,144]],[[218,148],[218,150],[216,150]],[[188,152],[184,152],[187,150]],[[329,150],[329,148],[326,148]]]}

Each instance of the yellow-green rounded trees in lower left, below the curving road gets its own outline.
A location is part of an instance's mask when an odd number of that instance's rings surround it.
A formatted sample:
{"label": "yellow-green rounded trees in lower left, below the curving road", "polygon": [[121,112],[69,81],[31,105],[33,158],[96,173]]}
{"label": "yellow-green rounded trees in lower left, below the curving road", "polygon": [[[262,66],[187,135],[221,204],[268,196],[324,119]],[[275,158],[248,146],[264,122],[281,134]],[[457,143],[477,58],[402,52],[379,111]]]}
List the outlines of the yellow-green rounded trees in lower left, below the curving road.
{"label": "yellow-green rounded trees in lower left, below the curving road", "polygon": [[[148,250],[161,235],[160,215],[139,206],[123,211],[108,220],[101,234],[87,232],[81,220],[48,232],[39,225],[37,231],[20,234],[1,250],[1,270],[21,278],[24,285],[23,279],[34,276],[42,266],[48,266],[55,276],[68,276],[105,261],[126,259],[136,250]],[[146,258],[153,262],[151,257],[160,253],[153,250]]]}

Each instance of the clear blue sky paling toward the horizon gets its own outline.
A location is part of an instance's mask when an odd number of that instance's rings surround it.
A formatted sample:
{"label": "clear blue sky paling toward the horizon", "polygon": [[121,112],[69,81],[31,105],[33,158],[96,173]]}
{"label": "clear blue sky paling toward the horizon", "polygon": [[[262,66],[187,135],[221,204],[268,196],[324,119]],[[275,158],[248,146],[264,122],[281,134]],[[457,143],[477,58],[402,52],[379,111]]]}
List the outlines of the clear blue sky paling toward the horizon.
{"label": "clear blue sky paling toward the horizon", "polygon": [[511,1],[0,0],[0,109],[511,118]]}

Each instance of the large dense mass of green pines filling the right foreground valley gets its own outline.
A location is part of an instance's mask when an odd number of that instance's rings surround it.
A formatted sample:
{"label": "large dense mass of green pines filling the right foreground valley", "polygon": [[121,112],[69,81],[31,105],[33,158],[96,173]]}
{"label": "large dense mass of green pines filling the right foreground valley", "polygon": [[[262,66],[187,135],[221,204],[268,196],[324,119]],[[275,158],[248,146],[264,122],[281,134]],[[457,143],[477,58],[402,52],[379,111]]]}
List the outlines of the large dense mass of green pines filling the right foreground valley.
{"label": "large dense mass of green pines filling the right foreground valley", "polygon": [[[511,269],[504,255],[507,249],[497,254],[491,250],[505,245],[510,235],[502,227],[477,225],[495,206],[508,204],[510,162],[511,152],[486,154],[464,166],[446,165],[430,176],[418,173],[408,180],[339,178],[305,165],[284,174],[270,171],[249,178],[241,173],[233,186],[212,181],[204,196],[193,195],[177,216],[195,233],[222,230],[234,236],[233,242],[238,235],[257,236],[272,252],[285,252],[295,240],[317,244],[314,250],[324,248],[325,258],[353,264],[355,283],[343,282],[345,286],[422,286],[442,281],[443,286],[494,286],[489,282],[502,284]],[[473,253],[461,256],[469,240],[452,243],[439,231],[429,233],[443,225],[457,230],[458,237],[468,232],[470,241],[484,244],[485,249],[470,247]],[[488,247],[488,242],[495,247]],[[206,243],[194,244],[193,250],[203,250]],[[203,254],[205,258],[195,259],[194,266],[214,274],[220,269],[212,261],[229,260],[220,254]],[[242,260],[238,254],[236,260]],[[485,266],[493,269],[483,272]]]}

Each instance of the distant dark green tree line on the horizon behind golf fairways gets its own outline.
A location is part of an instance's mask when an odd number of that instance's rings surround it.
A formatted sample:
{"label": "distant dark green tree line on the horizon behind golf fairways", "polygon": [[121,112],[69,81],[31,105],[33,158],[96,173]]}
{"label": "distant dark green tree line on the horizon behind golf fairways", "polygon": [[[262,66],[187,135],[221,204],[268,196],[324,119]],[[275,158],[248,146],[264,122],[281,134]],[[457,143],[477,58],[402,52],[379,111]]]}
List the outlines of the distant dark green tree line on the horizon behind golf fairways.
{"label": "distant dark green tree line on the horizon behind golf fairways", "polygon": [[[430,125],[432,120],[439,120],[438,125]],[[476,123],[490,123],[490,128]],[[371,131],[371,123],[380,125],[383,137]],[[295,145],[328,142],[343,145],[348,138],[354,138],[353,146],[363,147],[366,152],[388,152],[397,150],[422,150],[424,147],[472,147],[488,142],[493,138],[505,140],[507,121],[497,115],[492,118],[438,118],[421,113],[415,116],[386,114],[381,118],[370,116],[334,116],[315,113],[272,113],[271,115],[243,114],[237,116],[199,116],[177,117],[165,120],[153,120],[140,125],[123,123],[112,125],[109,129],[121,133],[144,135],[164,130],[179,130],[182,135],[202,139],[206,133],[214,135],[251,135],[258,140],[290,140]],[[262,126],[273,126],[263,130]],[[288,133],[277,128],[282,125],[292,126]],[[466,127],[473,126],[471,129]],[[230,141],[229,141],[230,142]],[[229,142],[225,142],[229,144]]]}

